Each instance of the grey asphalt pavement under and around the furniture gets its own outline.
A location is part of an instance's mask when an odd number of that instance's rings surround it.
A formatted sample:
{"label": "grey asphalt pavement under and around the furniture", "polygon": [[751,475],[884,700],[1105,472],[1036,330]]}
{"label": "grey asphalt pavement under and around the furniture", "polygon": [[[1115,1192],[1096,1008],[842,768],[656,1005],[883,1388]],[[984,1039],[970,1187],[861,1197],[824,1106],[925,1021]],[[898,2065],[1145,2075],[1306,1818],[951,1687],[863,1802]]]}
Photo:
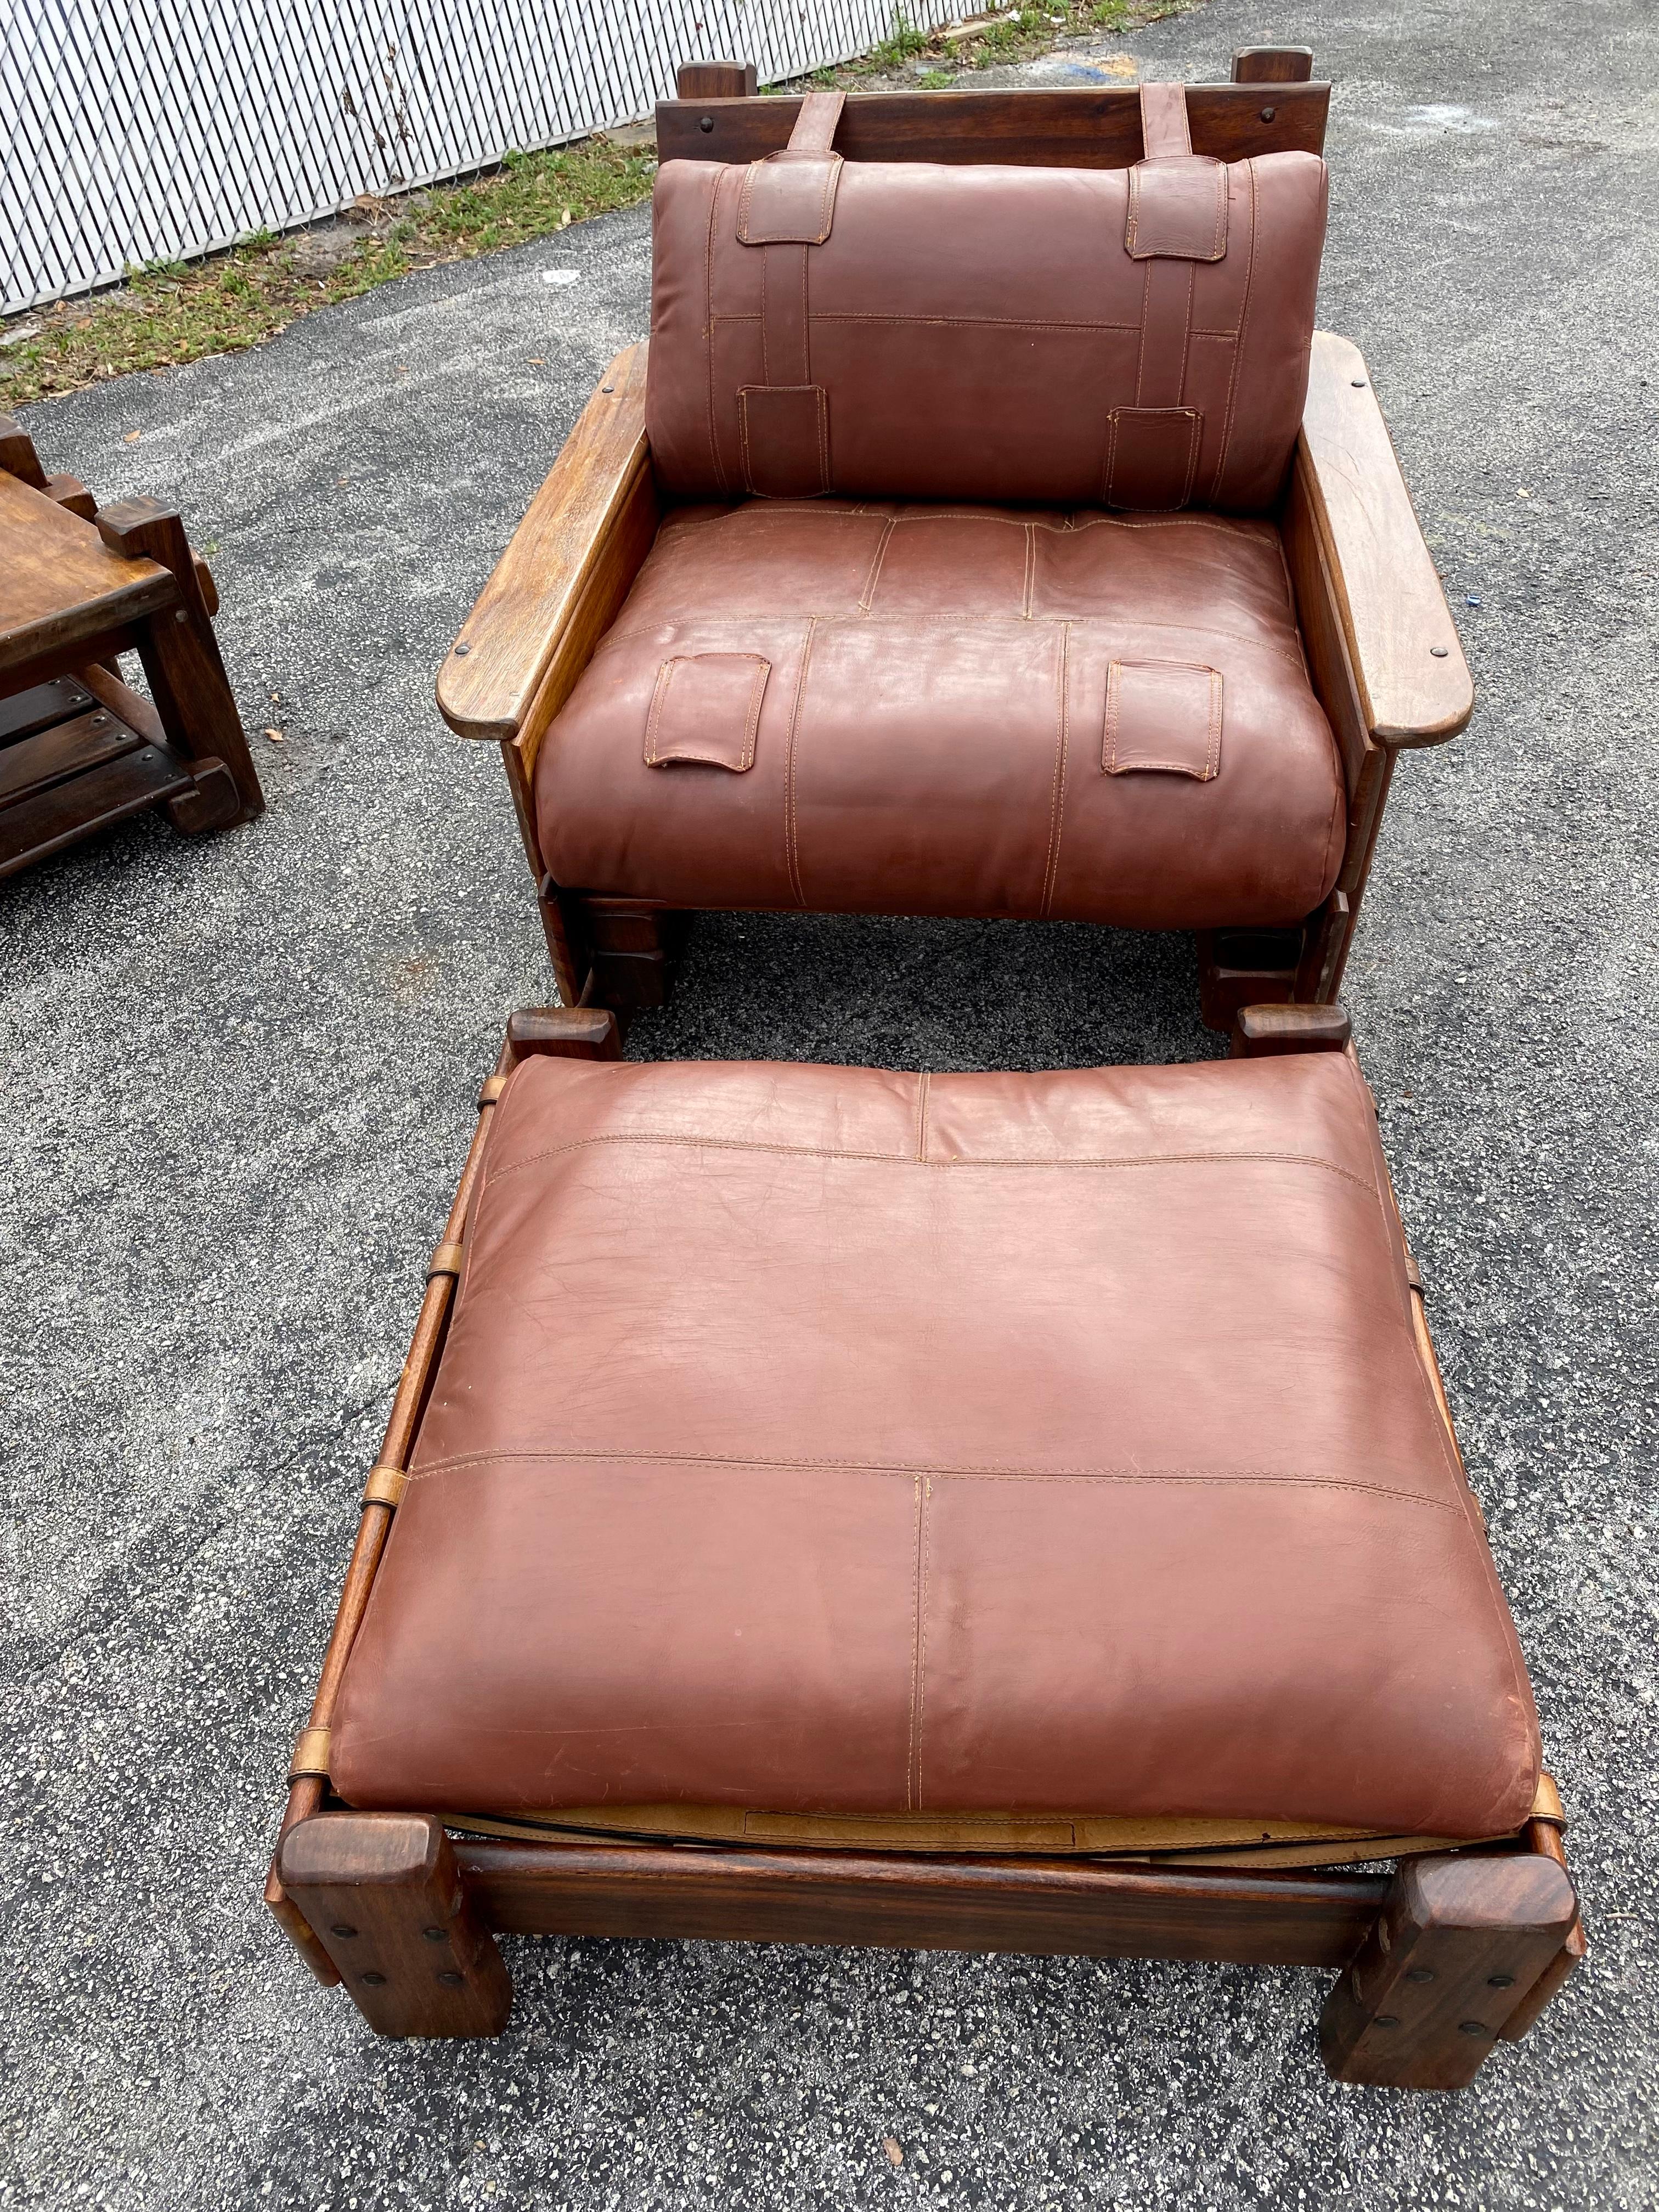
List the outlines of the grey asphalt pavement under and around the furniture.
{"label": "grey asphalt pavement under and around the furniture", "polygon": [[[270,812],[142,818],[0,885],[0,2205],[1659,2203],[1659,18],[1214,0],[1031,75],[1214,77],[1279,38],[1336,82],[1321,314],[1369,358],[1480,688],[1400,765],[1347,998],[1586,1969],[1462,2097],[1411,2097],[1325,2079],[1316,1973],[511,1942],[509,2035],[422,2046],[268,1920],[473,1091],[549,995],[500,761],[431,679],[646,330],[635,210],[29,411],[49,467],[184,509]],[[630,1048],[1217,1046],[1183,940],[706,918]]]}

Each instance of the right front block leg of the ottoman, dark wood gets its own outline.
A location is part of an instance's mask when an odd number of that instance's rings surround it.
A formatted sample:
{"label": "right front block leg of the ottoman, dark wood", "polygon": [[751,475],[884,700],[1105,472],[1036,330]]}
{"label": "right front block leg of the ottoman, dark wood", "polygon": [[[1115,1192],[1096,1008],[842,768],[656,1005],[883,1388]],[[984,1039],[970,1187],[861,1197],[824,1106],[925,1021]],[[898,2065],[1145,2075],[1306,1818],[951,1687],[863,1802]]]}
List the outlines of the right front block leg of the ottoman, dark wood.
{"label": "right front block leg of the ottoman, dark wood", "polygon": [[1462,2088],[1575,1920],[1573,1882],[1542,1854],[1407,1860],[1325,2004],[1327,2070],[1378,2088]]}

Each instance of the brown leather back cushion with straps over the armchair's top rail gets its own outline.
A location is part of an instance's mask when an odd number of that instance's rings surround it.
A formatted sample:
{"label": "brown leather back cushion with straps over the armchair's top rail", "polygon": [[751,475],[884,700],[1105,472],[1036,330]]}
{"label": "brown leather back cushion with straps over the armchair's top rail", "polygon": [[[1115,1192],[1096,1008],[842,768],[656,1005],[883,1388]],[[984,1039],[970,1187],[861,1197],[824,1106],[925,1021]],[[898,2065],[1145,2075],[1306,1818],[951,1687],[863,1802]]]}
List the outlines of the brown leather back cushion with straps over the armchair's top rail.
{"label": "brown leather back cushion with straps over the armchair's top rail", "polygon": [[1325,164],[657,177],[666,491],[1261,513],[1307,392]]}

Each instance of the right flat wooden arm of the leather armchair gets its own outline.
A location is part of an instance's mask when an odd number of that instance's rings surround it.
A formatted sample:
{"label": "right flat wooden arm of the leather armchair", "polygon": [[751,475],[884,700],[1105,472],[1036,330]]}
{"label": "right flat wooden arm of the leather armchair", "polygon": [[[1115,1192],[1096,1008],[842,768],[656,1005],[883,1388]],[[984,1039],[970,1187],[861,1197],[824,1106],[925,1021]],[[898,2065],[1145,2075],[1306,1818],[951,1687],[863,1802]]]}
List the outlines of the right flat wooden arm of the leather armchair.
{"label": "right flat wooden arm of the leather armchair", "polygon": [[1314,332],[1296,476],[1369,737],[1444,743],[1475,706],[1469,664],[1365,361],[1327,330]]}

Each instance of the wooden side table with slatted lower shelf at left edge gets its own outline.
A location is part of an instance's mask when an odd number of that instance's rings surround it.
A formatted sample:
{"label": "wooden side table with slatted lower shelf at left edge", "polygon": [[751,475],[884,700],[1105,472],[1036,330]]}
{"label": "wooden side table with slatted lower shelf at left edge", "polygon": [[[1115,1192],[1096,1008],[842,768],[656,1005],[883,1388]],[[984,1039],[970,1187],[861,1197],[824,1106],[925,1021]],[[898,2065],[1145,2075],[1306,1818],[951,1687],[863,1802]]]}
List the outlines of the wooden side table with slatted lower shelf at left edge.
{"label": "wooden side table with slatted lower shelf at left edge", "polygon": [[[263,812],[177,509],[100,507],[0,416],[0,876],[128,814],[199,836]],[[122,684],[137,653],[150,699]]]}

